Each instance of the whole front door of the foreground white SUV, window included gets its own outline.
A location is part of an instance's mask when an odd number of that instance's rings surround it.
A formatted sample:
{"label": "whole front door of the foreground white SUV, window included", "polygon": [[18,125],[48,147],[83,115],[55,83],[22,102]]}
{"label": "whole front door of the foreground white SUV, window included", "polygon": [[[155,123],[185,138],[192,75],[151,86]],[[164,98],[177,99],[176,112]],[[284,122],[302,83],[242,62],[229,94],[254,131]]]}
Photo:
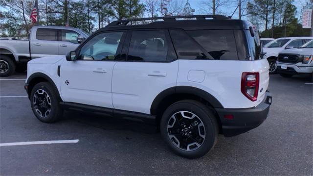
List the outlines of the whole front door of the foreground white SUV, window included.
{"label": "whole front door of the foreground white SUV, window included", "polygon": [[77,51],[77,60],[60,68],[62,99],[112,108],[112,71],[123,32],[95,34]]}

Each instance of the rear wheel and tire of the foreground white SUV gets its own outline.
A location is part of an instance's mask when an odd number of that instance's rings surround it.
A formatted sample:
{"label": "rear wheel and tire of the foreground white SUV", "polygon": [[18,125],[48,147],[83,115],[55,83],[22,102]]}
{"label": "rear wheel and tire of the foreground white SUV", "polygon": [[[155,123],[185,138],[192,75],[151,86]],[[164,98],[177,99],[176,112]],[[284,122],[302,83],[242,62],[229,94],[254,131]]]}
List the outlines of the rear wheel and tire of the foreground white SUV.
{"label": "rear wheel and tire of the foreground white SUV", "polygon": [[[188,119],[183,118],[182,114],[189,118],[196,116]],[[168,146],[176,154],[186,158],[199,158],[208,153],[215,146],[219,134],[213,112],[201,102],[193,100],[178,101],[170,105],[163,113],[160,130]]]}

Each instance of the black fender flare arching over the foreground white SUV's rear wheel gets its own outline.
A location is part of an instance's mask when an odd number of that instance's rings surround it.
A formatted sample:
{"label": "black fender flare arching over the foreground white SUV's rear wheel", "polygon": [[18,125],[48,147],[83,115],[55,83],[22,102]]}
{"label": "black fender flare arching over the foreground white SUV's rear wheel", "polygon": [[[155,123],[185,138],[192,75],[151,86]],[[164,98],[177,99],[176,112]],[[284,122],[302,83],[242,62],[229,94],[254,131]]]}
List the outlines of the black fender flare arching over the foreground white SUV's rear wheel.
{"label": "black fender flare arching over the foreground white SUV's rear wheel", "polygon": [[154,114],[156,112],[157,107],[164,98],[173,94],[195,95],[201,97],[205,101],[208,101],[214,108],[224,108],[220,101],[218,101],[214,96],[204,90],[191,86],[176,86],[165,89],[156,96],[150,108],[151,114]]}

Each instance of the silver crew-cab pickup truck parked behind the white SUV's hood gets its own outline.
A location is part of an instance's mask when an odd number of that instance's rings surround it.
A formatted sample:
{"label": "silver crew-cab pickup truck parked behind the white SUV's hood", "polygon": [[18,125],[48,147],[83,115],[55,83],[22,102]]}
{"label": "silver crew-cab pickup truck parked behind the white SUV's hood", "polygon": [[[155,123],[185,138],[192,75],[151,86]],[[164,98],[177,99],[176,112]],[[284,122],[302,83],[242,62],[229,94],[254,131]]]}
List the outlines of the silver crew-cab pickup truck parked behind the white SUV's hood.
{"label": "silver crew-cab pickup truck parked behind the white SUV's hood", "polygon": [[27,62],[44,56],[65,55],[75,50],[88,34],[62,26],[33,26],[29,40],[0,41],[0,76],[24,72]]}

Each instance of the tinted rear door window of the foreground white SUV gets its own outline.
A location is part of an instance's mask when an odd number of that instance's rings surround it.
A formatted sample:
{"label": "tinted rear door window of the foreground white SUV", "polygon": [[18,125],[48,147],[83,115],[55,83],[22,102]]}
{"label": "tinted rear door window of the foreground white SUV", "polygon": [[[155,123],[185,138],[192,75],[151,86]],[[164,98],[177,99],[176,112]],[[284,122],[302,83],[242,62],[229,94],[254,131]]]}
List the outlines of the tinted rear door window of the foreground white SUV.
{"label": "tinted rear door window of the foreground white SUV", "polygon": [[133,31],[127,60],[164,62],[168,43],[164,30]]}

